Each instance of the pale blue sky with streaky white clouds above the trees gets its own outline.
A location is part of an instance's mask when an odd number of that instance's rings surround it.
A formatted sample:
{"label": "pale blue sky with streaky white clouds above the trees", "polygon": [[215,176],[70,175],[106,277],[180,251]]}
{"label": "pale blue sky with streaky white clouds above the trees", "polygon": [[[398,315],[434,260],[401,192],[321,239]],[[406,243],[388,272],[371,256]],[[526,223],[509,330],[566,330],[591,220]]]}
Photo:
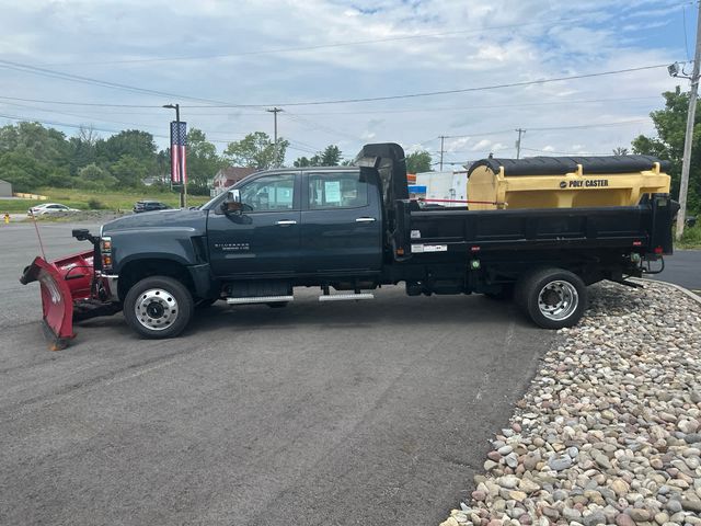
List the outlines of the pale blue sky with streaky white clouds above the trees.
{"label": "pale blue sky with streaky white clouds above the trees", "polygon": [[516,157],[517,128],[521,157],[610,155],[654,135],[662,92],[689,89],[666,66],[693,57],[698,8],[0,0],[0,125],[38,121],[67,136],[93,126],[101,137],[138,128],[164,148],[174,112],[162,105],[179,103],[222,151],[252,132],[272,136],[266,110],[280,107],[288,164],[327,145],[353,158],[366,142],[392,141],[429,151],[438,169],[445,136],[445,168],[458,169],[490,152]]}

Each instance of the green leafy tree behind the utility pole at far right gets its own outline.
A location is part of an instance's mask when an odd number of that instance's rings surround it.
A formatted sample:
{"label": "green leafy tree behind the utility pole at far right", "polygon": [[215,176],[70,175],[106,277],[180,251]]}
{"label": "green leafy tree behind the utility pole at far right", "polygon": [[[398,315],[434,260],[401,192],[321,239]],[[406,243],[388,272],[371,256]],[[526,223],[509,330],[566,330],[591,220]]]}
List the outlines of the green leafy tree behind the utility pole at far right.
{"label": "green leafy tree behind the utility pole at far right", "polygon": [[[650,114],[655,124],[657,136],[637,136],[632,142],[633,152],[670,161],[671,193],[675,198],[678,198],[689,93],[682,93],[677,87],[675,91],[663,93],[663,96],[665,98],[665,107]],[[699,113],[697,113],[693,123],[687,207],[694,213],[701,211],[701,114]]]}

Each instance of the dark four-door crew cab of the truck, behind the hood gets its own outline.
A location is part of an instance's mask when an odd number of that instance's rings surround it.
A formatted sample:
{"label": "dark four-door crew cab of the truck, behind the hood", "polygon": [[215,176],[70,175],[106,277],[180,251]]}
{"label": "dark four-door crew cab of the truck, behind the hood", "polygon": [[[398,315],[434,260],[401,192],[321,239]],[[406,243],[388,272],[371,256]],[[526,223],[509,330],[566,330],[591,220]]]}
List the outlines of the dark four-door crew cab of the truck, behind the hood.
{"label": "dark four-door crew cab of the truck, behind the hood", "polygon": [[204,206],[211,274],[221,279],[378,274],[377,172],[355,167],[272,170]]}

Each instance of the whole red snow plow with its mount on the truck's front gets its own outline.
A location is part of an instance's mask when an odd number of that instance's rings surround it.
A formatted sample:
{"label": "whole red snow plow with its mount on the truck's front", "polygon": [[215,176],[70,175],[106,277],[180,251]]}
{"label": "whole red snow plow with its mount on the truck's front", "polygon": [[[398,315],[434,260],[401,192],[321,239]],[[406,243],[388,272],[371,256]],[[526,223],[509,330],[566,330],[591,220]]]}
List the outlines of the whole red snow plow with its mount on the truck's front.
{"label": "whole red snow plow with its mount on the truck's front", "polygon": [[[76,232],[73,232],[76,235]],[[93,241],[85,231],[83,239]],[[80,239],[80,238],[78,238]],[[94,268],[94,250],[47,262],[36,256],[20,278],[24,285],[39,282],[44,332],[50,351],[66,348],[74,338],[73,322],[119,310],[107,302],[110,286]]]}

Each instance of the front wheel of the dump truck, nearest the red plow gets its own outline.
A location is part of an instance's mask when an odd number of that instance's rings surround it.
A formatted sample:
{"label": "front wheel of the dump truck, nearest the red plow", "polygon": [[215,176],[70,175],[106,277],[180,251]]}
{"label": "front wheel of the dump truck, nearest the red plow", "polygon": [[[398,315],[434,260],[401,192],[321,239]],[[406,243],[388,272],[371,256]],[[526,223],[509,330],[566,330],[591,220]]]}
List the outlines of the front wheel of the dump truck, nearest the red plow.
{"label": "front wheel of the dump truck, nearest the red plow", "polygon": [[124,299],[124,317],[129,327],[152,340],[174,338],[183,332],[193,311],[189,290],[168,276],[145,277]]}

